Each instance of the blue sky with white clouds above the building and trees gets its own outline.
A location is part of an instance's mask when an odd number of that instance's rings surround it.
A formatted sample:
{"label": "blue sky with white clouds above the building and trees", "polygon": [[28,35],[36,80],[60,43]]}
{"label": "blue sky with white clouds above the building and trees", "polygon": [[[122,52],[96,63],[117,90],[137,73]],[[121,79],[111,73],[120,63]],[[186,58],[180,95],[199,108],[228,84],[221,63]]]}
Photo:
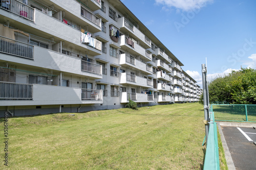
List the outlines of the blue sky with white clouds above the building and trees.
{"label": "blue sky with white clouds above the building and trees", "polygon": [[199,85],[232,69],[256,69],[255,0],[121,0]]}

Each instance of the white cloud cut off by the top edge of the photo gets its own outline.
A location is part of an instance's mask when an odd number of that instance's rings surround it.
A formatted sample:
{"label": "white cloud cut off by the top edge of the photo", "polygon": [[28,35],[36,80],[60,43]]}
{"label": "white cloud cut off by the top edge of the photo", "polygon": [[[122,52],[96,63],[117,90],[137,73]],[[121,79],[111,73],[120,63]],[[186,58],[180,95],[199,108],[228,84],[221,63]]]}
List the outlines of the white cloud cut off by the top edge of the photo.
{"label": "white cloud cut off by the top edge of the photo", "polygon": [[200,9],[213,0],[155,0],[157,4],[175,7],[184,11]]}

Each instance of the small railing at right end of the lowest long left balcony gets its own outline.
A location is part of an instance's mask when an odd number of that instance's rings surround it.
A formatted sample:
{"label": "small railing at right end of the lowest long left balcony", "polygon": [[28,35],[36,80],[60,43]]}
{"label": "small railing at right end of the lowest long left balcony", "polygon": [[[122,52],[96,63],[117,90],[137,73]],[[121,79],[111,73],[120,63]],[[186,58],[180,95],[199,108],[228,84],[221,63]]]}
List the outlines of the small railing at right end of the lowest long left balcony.
{"label": "small railing at right end of the lowest long left balcony", "polygon": [[81,100],[102,100],[102,90],[84,89],[82,88]]}

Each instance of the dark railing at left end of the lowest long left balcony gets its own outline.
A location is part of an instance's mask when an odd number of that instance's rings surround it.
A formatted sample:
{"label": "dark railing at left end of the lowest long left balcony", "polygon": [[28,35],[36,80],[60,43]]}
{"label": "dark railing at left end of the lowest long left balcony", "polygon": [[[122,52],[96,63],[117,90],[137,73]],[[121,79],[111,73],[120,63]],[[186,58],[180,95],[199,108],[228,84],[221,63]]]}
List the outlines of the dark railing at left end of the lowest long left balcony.
{"label": "dark railing at left end of the lowest long left balcony", "polygon": [[32,100],[32,84],[0,82],[0,100]]}

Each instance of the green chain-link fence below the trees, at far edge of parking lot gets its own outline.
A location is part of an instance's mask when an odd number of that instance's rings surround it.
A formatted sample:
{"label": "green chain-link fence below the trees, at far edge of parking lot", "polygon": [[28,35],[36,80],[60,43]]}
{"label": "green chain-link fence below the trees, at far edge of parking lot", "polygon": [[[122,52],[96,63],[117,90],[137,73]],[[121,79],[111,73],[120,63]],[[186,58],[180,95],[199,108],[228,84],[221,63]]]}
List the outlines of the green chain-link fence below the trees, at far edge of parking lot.
{"label": "green chain-link fence below the trees, at far edge of parking lot", "polygon": [[256,105],[211,105],[215,120],[233,122],[256,122]]}

